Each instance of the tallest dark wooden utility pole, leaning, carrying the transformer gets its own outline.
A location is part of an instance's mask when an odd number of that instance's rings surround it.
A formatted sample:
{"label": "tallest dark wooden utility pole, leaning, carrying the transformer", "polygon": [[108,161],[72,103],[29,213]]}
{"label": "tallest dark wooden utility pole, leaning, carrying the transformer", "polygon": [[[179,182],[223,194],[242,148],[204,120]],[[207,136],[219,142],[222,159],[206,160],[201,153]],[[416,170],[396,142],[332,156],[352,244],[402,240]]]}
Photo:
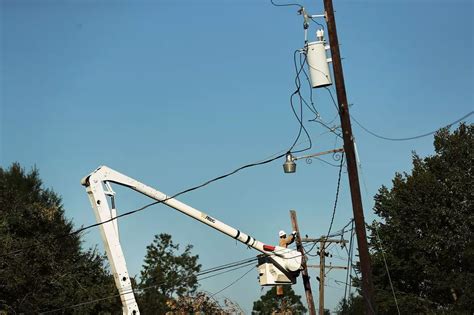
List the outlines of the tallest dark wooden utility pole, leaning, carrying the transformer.
{"label": "tallest dark wooden utility pole, leaning, carrying the transformer", "polygon": [[349,176],[349,186],[351,190],[352,211],[354,212],[355,230],[357,244],[359,247],[360,271],[362,273],[362,295],[364,297],[366,314],[375,314],[374,286],[372,283],[372,270],[370,266],[369,247],[367,245],[367,235],[365,231],[364,210],[360,194],[359,175],[354,149],[354,137],[352,135],[351,118],[349,115],[349,105],[347,102],[346,86],[342,71],[341,54],[339,51],[339,41],[337,38],[336,19],[332,0],[323,0],[326,11],[326,23],[328,28],[329,44],[331,47],[331,57],[336,84],[336,94],[341,119],[342,138],[344,140],[344,152],[347,161],[347,173]]}

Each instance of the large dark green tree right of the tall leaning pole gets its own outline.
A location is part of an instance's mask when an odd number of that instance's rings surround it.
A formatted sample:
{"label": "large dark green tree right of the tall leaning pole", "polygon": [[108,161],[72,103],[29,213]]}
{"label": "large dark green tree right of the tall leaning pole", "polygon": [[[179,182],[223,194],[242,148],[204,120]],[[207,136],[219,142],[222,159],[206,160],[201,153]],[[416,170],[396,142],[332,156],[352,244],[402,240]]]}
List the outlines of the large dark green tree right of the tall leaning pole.
{"label": "large dark green tree right of the tall leaning pole", "polygon": [[[411,174],[375,196],[380,217],[369,227],[380,314],[474,313],[474,125],[434,137],[435,153],[413,154]],[[383,251],[382,251],[383,249]]]}

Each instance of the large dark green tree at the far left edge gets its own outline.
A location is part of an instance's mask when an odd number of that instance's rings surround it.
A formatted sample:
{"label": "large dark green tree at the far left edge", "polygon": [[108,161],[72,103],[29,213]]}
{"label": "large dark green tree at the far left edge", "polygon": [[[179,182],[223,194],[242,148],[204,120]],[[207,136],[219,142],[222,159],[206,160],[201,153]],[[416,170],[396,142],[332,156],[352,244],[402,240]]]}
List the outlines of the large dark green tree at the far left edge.
{"label": "large dark green tree at the far left edge", "polygon": [[[113,279],[96,250],[82,251],[60,197],[36,169],[0,168],[0,311],[38,313],[111,295]],[[114,300],[68,313],[119,311]]]}

